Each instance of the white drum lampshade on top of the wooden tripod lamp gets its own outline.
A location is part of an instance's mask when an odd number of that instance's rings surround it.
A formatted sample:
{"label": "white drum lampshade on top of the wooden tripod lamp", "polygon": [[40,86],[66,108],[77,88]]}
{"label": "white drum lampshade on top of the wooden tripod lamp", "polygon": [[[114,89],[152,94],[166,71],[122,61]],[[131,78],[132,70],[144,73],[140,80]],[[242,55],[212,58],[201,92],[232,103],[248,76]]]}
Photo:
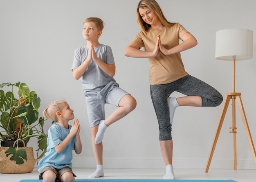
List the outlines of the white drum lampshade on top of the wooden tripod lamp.
{"label": "white drum lampshade on top of the wooden tripod lamp", "polygon": [[253,31],[251,30],[225,29],[216,32],[216,59],[252,59],[252,47]]}

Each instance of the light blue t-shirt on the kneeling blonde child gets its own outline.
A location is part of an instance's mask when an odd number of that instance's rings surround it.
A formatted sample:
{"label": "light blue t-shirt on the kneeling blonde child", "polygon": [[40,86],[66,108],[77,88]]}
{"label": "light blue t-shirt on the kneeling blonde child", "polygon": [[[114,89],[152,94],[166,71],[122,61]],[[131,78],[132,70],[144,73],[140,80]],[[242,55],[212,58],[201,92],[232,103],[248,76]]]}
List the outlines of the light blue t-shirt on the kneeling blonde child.
{"label": "light blue t-shirt on the kneeling blonde child", "polygon": [[58,153],[54,149],[60,144],[70,133],[71,125],[69,128],[63,128],[57,123],[53,124],[48,130],[47,137],[47,151],[45,157],[38,163],[38,171],[40,172],[45,166],[52,166],[56,169],[62,169],[63,167],[70,167],[72,169],[72,150],[75,147],[75,136],[72,138],[67,147]]}

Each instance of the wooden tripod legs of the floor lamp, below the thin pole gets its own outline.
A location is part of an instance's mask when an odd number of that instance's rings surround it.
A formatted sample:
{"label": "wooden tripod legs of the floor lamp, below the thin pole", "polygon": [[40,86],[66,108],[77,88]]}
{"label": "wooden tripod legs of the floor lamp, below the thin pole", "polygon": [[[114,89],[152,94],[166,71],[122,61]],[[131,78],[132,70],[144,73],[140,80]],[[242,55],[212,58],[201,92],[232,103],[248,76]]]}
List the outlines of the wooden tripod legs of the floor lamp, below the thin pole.
{"label": "wooden tripod legs of the floor lamp, below the thin pole", "polygon": [[211,164],[211,159],[213,157],[213,152],[214,152],[214,149],[216,147],[218,137],[220,135],[220,130],[221,130],[221,127],[222,127],[222,124],[223,124],[223,121],[224,121],[224,118],[225,118],[225,115],[226,115],[226,112],[227,112],[227,108],[228,108],[230,99],[232,99],[232,127],[230,127],[230,129],[232,131],[230,133],[233,133],[233,141],[234,141],[234,170],[237,169],[237,166],[236,166],[236,105],[235,105],[236,102],[235,102],[235,100],[237,101],[237,104],[238,104],[238,108],[239,108],[239,111],[240,111],[240,115],[242,117],[243,125],[245,127],[246,136],[247,136],[247,139],[248,139],[248,142],[249,142],[250,149],[252,151],[252,156],[254,158],[254,163],[256,165],[256,152],[255,152],[254,144],[253,144],[253,141],[252,141],[252,136],[251,136],[251,133],[250,133],[250,129],[249,129],[249,126],[248,126],[248,123],[247,123],[247,118],[245,116],[245,110],[244,110],[242,99],[241,99],[241,93],[231,92],[231,93],[226,94],[225,103],[224,103],[224,106],[223,106],[223,109],[222,109],[222,113],[220,115],[220,120],[219,120],[217,129],[216,129],[216,132],[215,132],[215,136],[214,136],[213,143],[212,143],[212,146],[211,146],[210,155],[209,155],[207,165],[206,165],[206,168],[205,168],[205,171],[204,171],[205,173],[208,173],[208,171],[209,171],[209,167],[210,167],[210,164]]}

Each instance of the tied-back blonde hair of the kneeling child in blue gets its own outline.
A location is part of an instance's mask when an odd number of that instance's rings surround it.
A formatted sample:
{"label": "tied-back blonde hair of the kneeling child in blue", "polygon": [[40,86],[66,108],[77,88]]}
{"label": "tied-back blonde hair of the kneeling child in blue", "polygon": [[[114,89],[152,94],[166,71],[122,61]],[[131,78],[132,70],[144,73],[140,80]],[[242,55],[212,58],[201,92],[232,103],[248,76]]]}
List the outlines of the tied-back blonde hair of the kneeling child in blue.
{"label": "tied-back blonde hair of the kneeling child in blue", "polygon": [[52,119],[53,121],[57,122],[58,117],[56,112],[61,112],[64,107],[64,103],[67,103],[63,100],[57,100],[48,105],[48,107],[43,111],[43,115],[47,119]]}

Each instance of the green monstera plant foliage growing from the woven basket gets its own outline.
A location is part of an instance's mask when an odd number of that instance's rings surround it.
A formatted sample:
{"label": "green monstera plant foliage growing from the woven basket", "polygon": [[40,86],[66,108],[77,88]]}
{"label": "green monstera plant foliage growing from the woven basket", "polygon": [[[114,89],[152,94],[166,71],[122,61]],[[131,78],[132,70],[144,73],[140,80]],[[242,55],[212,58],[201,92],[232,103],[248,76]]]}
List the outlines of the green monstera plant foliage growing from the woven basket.
{"label": "green monstera plant foliage growing from the woven basket", "polygon": [[[29,90],[26,83],[2,83],[0,85],[0,140],[4,142],[23,140],[29,142],[31,137],[37,138],[37,159],[43,157],[47,148],[47,135],[43,125],[45,119],[39,117],[40,97]],[[18,142],[16,144],[20,145]],[[6,156],[17,164],[27,160],[26,151],[17,147],[9,147]],[[40,151],[40,152],[39,152]]]}

